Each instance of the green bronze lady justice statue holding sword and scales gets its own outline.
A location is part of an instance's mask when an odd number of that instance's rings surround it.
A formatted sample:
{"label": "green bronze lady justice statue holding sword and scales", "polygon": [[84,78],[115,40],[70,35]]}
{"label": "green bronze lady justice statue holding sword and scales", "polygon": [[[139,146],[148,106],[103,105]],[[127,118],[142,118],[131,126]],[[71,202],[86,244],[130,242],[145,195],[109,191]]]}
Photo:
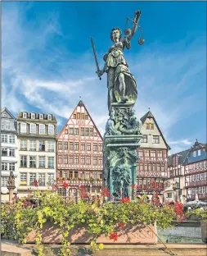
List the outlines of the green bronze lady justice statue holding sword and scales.
{"label": "green bronze lady justice statue holding sword and scales", "polygon": [[[128,70],[128,63],[124,59],[124,48],[130,49],[133,35],[137,31],[138,21],[141,16],[141,11],[135,11],[133,21],[133,28],[126,29],[124,39],[121,39],[122,32],[119,28],[114,28],[110,32],[110,39],[113,45],[109,48],[108,53],[103,56],[105,65],[102,70],[99,69],[97,62],[97,54],[94,43],[92,41],[93,53],[97,64],[97,75],[101,80],[101,75],[107,73],[107,87],[108,87],[108,108],[110,112],[111,103],[131,103],[134,104],[137,100],[137,83],[134,76]],[[139,27],[141,29],[141,27]],[[142,33],[142,30],[141,30]],[[92,40],[92,39],[91,39]],[[138,43],[142,45],[144,39],[140,38]]]}

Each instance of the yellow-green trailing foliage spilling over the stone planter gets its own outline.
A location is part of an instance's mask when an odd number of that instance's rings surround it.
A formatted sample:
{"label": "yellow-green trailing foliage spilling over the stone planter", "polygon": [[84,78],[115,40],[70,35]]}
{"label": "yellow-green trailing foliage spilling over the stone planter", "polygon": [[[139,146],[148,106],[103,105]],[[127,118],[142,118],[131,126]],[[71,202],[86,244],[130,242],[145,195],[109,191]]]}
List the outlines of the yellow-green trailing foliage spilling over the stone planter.
{"label": "yellow-green trailing foliage spilling over the stone planter", "polygon": [[119,223],[127,225],[144,224],[151,225],[155,222],[161,229],[171,226],[174,218],[173,208],[169,205],[156,206],[154,203],[146,203],[145,199],[135,200],[130,203],[95,203],[89,204],[80,200],[65,203],[58,194],[45,192],[42,195],[35,194],[37,201],[35,207],[28,203],[29,197],[20,199],[11,204],[2,203],[2,236],[7,239],[26,243],[29,231],[35,230],[38,256],[44,256],[41,230],[45,222],[51,222],[61,229],[62,248],[60,256],[71,255],[70,243],[67,238],[70,229],[84,226],[88,233],[92,234],[91,248],[93,253],[103,249],[103,245],[97,245],[98,236],[109,236],[114,231],[119,231]]}

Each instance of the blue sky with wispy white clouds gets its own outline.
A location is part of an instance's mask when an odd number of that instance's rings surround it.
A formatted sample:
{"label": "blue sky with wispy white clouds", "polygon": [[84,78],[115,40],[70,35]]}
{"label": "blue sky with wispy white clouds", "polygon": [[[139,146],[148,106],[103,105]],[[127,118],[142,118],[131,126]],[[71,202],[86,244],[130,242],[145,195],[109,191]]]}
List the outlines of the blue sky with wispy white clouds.
{"label": "blue sky with wispy white clouds", "polygon": [[[82,96],[103,134],[110,30],[141,10],[146,43],[124,53],[137,80],[137,117],[151,107],[171,153],[206,142],[206,2],[2,2],[2,107],[51,112],[64,126]],[[131,24],[130,24],[131,25]]]}

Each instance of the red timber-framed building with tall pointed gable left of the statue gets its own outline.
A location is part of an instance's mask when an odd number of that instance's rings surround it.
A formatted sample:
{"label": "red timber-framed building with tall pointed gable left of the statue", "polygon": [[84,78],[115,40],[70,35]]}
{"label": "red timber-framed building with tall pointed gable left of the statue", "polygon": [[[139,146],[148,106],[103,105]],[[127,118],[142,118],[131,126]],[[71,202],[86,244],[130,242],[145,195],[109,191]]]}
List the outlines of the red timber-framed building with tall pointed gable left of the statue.
{"label": "red timber-framed building with tall pointed gable left of the statue", "polygon": [[61,194],[75,195],[80,186],[99,194],[103,173],[103,139],[87,108],[80,100],[56,138],[56,176],[69,182]]}

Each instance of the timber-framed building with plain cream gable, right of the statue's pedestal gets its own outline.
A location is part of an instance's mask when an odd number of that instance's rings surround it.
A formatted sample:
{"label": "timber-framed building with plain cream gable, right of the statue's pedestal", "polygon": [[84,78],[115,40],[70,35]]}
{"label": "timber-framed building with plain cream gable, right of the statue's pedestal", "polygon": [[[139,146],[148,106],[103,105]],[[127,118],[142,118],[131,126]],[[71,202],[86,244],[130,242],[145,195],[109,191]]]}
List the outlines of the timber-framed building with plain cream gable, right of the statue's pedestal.
{"label": "timber-framed building with plain cream gable, right of the statue's pedestal", "polygon": [[156,192],[162,202],[170,148],[151,111],[147,112],[141,121],[142,142],[138,148],[140,160],[137,162],[137,191],[139,194],[146,193],[148,199]]}

